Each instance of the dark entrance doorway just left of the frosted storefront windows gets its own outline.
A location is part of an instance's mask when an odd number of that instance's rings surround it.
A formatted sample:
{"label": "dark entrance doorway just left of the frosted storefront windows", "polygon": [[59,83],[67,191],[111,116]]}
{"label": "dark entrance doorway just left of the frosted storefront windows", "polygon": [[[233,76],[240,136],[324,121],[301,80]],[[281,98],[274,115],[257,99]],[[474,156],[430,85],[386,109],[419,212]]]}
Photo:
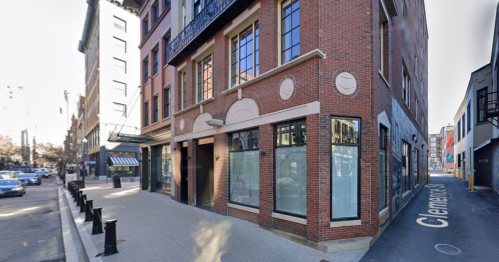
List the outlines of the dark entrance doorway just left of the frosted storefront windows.
{"label": "dark entrance doorway just left of the frosted storefront windows", "polygon": [[196,203],[211,204],[214,196],[213,144],[197,146],[196,162]]}

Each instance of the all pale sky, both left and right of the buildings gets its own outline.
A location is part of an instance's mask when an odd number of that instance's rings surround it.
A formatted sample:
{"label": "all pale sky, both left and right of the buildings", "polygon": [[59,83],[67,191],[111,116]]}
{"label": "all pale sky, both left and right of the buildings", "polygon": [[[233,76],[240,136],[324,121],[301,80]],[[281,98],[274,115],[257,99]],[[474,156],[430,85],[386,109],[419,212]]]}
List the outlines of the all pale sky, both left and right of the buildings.
{"label": "all pale sky, both left and right of the buildings", "polygon": [[[430,134],[453,124],[471,72],[490,62],[497,2],[425,1]],[[38,143],[62,144],[64,90],[69,116],[84,93],[84,55],[77,47],[86,10],[85,0],[0,0],[0,134],[20,143],[28,129],[30,143],[36,136]]]}

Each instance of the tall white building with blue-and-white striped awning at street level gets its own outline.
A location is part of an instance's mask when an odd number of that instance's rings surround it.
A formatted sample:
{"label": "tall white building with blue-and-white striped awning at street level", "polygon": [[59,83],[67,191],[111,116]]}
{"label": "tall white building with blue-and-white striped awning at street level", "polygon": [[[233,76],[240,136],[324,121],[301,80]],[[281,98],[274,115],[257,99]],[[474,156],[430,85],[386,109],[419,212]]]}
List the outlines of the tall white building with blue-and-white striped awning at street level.
{"label": "tall white building with blue-and-white striped awning at street level", "polygon": [[137,176],[140,134],[138,14],[122,1],[89,0],[78,50],[85,54],[88,174]]}

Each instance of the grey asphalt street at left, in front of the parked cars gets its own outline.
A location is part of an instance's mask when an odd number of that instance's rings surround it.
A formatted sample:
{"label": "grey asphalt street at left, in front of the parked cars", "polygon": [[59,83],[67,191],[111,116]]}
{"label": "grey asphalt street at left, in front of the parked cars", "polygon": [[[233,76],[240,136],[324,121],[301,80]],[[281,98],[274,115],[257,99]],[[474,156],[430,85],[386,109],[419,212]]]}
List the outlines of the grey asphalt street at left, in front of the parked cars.
{"label": "grey asphalt street at left, in front of the parked cars", "polygon": [[55,178],[0,198],[0,261],[65,261]]}

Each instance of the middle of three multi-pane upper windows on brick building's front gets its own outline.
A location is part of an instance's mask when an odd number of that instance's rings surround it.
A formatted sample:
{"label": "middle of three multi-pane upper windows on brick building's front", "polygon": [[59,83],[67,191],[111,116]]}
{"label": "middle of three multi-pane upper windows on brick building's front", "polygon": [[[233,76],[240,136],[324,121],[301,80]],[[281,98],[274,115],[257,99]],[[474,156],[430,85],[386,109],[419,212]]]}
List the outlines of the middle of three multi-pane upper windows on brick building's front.
{"label": "middle of three multi-pane upper windows on brick building's front", "polygon": [[232,38],[231,86],[242,84],[260,73],[258,21]]}

